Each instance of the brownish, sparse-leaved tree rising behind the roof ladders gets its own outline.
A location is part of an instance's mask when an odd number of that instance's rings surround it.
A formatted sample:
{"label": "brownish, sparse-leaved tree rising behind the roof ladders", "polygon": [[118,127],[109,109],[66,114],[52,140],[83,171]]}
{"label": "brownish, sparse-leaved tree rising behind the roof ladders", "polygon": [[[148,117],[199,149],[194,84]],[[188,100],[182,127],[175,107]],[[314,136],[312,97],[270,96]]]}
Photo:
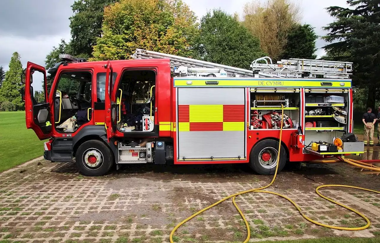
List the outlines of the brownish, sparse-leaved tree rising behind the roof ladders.
{"label": "brownish, sparse-leaved tree rising behind the roof ladders", "polygon": [[247,3],[243,9],[243,24],[260,40],[261,49],[277,60],[284,51],[288,33],[301,19],[301,10],[290,0],[268,0]]}

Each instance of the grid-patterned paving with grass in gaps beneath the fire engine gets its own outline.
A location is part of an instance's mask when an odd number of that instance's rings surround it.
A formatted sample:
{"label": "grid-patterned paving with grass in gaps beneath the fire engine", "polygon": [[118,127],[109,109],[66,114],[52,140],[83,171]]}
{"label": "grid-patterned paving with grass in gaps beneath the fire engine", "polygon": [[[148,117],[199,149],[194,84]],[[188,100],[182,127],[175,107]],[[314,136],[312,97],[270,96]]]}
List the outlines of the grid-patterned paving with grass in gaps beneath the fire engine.
{"label": "grid-patterned paving with grass in gaps beneath the fire engine", "polygon": [[[365,222],[314,190],[327,183],[380,190],[378,178],[346,164],[306,165],[299,172],[280,173],[269,190],[295,200],[312,219],[357,227]],[[72,164],[35,161],[0,176],[0,242],[168,242],[173,227],[192,213],[270,180],[245,166],[136,165],[92,178],[78,174]],[[271,194],[244,194],[236,201],[250,222],[251,241],[380,235],[380,195],[344,188],[323,193],[364,213],[370,229],[350,232],[315,226],[287,200]],[[226,201],[180,227],[174,240],[228,242],[245,236],[244,222]]]}

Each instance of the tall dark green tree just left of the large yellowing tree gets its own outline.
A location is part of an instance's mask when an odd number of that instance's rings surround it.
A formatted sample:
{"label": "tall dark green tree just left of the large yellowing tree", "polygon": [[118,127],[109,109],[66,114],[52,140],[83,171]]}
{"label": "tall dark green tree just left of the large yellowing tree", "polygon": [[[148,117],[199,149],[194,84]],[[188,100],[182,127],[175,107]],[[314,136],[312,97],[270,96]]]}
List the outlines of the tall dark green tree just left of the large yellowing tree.
{"label": "tall dark green tree just left of the large yellowing tree", "polygon": [[72,54],[88,58],[96,39],[101,37],[101,24],[105,6],[117,0],[77,0],[71,6],[74,16],[70,17]]}

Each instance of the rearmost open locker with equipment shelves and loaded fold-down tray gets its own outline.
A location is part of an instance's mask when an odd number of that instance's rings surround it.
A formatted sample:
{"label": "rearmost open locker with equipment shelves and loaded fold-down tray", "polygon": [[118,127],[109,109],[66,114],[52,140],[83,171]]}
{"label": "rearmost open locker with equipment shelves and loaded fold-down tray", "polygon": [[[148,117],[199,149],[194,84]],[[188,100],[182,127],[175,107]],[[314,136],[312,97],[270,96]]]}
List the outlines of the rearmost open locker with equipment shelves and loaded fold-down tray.
{"label": "rearmost open locker with equipment shelves and loaded fold-down tray", "polygon": [[[305,89],[306,153],[323,157],[364,153],[364,143],[358,141],[353,134],[349,134],[352,126],[350,92],[349,89]],[[347,136],[349,139],[345,139]],[[335,140],[337,138],[344,139],[340,139],[340,142],[339,139]],[[323,151],[319,144],[322,145]]]}

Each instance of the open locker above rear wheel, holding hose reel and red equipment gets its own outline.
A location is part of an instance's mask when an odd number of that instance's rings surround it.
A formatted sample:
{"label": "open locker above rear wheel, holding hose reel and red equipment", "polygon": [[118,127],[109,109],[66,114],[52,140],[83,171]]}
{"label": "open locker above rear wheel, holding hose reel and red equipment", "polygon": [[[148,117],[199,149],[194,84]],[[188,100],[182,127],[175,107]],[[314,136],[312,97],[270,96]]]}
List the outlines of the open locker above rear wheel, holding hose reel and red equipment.
{"label": "open locker above rear wheel, holding hose reel and red equipment", "polygon": [[[298,129],[300,124],[300,88],[251,88],[250,89],[250,130]],[[281,114],[283,105],[283,116]]]}

